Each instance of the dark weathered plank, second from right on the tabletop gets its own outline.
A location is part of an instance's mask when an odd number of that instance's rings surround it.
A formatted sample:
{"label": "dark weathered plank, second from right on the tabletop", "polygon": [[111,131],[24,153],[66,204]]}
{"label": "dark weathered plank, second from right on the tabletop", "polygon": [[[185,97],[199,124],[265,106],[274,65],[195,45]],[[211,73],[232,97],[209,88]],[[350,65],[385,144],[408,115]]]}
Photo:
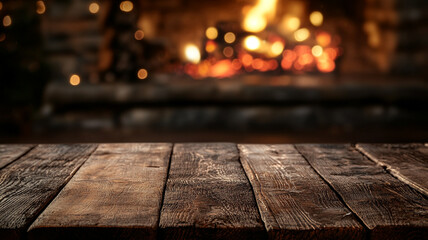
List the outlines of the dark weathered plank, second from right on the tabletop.
{"label": "dark weathered plank, second from right on the tabletop", "polygon": [[350,145],[297,145],[371,230],[372,239],[427,239],[428,199]]}

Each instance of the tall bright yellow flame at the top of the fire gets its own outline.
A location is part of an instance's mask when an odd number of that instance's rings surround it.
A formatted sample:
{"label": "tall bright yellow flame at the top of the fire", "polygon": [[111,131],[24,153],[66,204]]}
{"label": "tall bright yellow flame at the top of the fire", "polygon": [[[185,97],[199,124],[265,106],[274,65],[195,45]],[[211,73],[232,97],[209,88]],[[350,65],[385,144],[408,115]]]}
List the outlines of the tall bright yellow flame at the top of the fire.
{"label": "tall bright yellow flame at the top of the fire", "polygon": [[263,31],[268,21],[275,17],[277,0],[258,0],[244,17],[243,28],[248,32]]}

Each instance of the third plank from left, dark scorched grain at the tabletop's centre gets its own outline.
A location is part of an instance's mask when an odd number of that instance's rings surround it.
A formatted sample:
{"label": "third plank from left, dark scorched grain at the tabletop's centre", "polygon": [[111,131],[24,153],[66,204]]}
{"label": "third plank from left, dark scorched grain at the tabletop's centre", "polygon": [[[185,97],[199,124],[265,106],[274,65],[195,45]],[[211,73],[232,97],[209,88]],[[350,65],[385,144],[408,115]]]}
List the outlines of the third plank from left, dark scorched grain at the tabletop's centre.
{"label": "third plank from left, dark scorched grain at the tabletop's centre", "polygon": [[159,226],[162,239],[265,237],[235,144],[174,146]]}

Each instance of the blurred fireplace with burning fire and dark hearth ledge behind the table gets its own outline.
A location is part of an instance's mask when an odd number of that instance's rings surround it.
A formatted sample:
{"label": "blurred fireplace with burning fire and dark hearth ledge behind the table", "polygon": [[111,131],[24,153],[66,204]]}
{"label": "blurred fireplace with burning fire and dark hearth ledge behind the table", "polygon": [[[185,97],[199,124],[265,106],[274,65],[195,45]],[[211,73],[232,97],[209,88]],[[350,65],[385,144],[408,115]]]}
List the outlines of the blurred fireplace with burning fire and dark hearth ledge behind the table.
{"label": "blurred fireplace with burning fire and dark hearth ledge behind the table", "polygon": [[[243,23],[257,2],[49,1],[53,81],[36,128],[424,139],[426,1],[278,0],[252,32]],[[245,46],[249,36],[259,48]]]}

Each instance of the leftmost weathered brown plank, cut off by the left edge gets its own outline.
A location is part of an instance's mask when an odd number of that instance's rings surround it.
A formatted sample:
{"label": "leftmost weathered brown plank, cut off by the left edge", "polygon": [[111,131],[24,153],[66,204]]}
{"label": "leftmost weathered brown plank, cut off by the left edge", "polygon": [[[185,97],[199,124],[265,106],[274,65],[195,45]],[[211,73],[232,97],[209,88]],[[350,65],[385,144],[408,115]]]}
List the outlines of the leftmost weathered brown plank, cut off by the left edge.
{"label": "leftmost weathered brown plank, cut off by the left edge", "polygon": [[19,238],[95,148],[39,145],[0,170],[0,239]]}

